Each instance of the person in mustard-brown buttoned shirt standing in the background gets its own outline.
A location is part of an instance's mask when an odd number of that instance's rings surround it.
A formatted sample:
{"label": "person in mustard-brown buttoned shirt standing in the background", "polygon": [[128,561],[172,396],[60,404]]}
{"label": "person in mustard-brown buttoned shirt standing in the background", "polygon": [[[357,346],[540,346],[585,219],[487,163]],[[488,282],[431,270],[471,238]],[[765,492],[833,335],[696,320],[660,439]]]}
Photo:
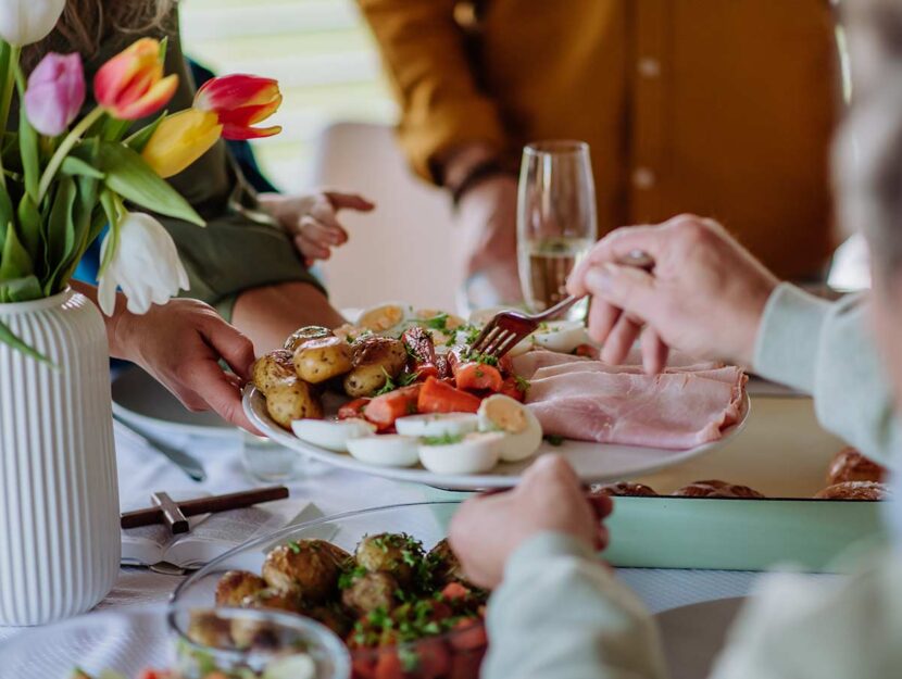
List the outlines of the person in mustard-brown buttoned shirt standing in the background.
{"label": "person in mustard-brown buttoned shirt standing in the background", "polygon": [[779,276],[834,249],[829,2],[358,0],[413,169],[458,205],[471,305],[522,299],[525,143],[591,147],[600,234],[716,214]]}

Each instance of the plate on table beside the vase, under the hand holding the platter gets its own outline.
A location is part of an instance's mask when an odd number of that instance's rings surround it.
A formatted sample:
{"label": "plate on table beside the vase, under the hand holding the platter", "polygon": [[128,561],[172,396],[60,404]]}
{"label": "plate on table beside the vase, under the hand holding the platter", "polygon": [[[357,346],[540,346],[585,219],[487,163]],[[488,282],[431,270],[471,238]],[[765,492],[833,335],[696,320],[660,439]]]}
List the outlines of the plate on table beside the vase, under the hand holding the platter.
{"label": "plate on table beside the vase, under the hand holding the platter", "polygon": [[216,413],[192,413],[139,367],[124,369],[111,386],[113,412],[135,427],[199,437],[235,437],[235,427]]}

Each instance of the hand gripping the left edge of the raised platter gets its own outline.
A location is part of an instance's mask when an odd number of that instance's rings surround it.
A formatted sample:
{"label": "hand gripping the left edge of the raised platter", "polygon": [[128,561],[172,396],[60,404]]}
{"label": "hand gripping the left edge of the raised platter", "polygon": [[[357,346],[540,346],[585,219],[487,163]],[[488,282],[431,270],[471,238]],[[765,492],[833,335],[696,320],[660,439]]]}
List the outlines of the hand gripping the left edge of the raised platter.
{"label": "hand gripping the left edge of the raised platter", "polygon": [[[116,315],[113,355],[140,365],[189,411],[213,410],[234,425],[260,433],[241,407],[241,383],[250,379],[253,344],[208,304],[175,299],[146,314]],[[220,359],[231,367],[228,373]]]}

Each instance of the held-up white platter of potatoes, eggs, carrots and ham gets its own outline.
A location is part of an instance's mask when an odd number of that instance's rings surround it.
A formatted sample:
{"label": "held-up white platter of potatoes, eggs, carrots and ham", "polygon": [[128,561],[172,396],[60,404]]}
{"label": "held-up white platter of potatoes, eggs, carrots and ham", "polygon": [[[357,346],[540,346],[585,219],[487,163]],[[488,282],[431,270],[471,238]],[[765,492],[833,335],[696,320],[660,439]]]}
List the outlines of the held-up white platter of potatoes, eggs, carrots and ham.
{"label": "held-up white platter of potatoes, eggs, carrots and ham", "polygon": [[301,328],[254,365],[252,422],[328,464],[454,490],[516,483],[537,455],[622,480],[722,445],[749,412],[741,369],[678,357],[662,375],[598,360],[582,324],[544,324],[500,361],[467,322],[401,303]]}

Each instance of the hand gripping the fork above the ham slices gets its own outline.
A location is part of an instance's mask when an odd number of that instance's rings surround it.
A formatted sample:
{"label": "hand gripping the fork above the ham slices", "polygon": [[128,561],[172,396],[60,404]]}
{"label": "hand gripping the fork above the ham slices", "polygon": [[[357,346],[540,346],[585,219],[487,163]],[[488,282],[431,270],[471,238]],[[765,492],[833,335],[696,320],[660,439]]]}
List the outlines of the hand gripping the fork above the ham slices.
{"label": "hand gripping the fork above the ham slices", "polygon": [[[652,274],[615,264],[634,250],[652,256]],[[592,296],[589,335],[604,343],[603,361],[623,361],[641,334],[646,370],[660,373],[669,349],[751,365],[778,282],[719,224],[680,215],[609,234],[574,269],[567,291]]]}

